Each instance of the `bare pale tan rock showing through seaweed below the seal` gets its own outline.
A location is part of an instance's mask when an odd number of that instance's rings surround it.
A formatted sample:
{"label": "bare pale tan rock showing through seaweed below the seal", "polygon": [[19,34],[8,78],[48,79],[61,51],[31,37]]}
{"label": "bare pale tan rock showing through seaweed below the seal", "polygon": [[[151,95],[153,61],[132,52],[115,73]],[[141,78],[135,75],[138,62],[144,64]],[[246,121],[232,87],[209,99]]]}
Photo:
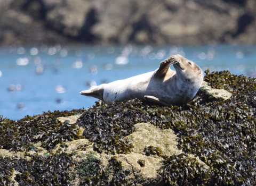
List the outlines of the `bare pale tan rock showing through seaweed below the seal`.
{"label": "bare pale tan rock showing through seaweed below the seal", "polygon": [[[76,123],[76,120],[81,115],[71,115],[68,117],[58,117],[58,120],[62,123],[68,122],[69,124]],[[159,129],[156,126],[149,123],[137,123],[134,125],[135,131],[126,137],[126,140],[133,143],[134,149],[130,154],[117,154],[115,156],[105,153],[98,153],[93,148],[93,143],[87,139],[77,139],[62,144],[58,144],[54,149],[51,150],[51,154],[59,154],[62,152],[67,153],[71,156],[74,162],[82,162],[90,157],[90,159],[99,159],[101,166],[105,169],[111,167],[110,158],[115,157],[116,160],[122,165],[120,167],[120,172],[125,173],[126,185],[164,185],[164,180],[161,175],[157,173],[159,168],[162,166],[162,161],[164,155],[171,156],[173,154],[179,155],[182,154],[182,150],[178,149],[178,137],[174,134],[174,131],[171,129]],[[146,147],[157,147],[162,150],[162,155],[148,155],[145,152]],[[37,153],[34,150],[27,152],[19,152],[16,154],[14,151],[9,152],[5,149],[0,149],[1,157],[19,157],[30,159],[30,156],[42,156],[47,157],[50,153],[42,147],[42,143],[38,142],[34,144],[34,147],[37,149]],[[194,155],[189,155],[190,157],[195,157]],[[143,160],[144,166],[139,164],[139,160]],[[209,169],[204,162],[197,159],[200,164]],[[76,166],[79,166],[77,164]],[[92,171],[89,167],[89,170]],[[15,184],[18,183],[15,181],[15,176],[17,174],[22,175],[18,171],[14,171],[12,180]],[[73,167],[73,171],[70,172],[70,175],[74,175],[74,179],[70,182],[72,185],[81,185],[82,180],[76,172],[76,168]],[[111,185],[113,182],[114,173],[108,174],[107,179],[99,180],[97,185]]]}

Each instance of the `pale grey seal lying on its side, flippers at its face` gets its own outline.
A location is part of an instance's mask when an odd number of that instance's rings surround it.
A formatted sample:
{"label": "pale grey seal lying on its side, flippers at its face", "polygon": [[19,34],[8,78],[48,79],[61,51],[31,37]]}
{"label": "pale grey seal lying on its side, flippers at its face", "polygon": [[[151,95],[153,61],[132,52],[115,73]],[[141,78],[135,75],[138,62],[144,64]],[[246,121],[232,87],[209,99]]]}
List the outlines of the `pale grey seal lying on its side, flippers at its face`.
{"label": "pale grey seal lying on its side, flippers at its face", "polygon": [[[171,64],[175,71],[170,69]],[[182,105],[194,98],[203,78],[203,71],[197,64],[177,54],[161,62],[153,72],[93,86],[80,94],[106,104],[138,98],[157,105]]]}

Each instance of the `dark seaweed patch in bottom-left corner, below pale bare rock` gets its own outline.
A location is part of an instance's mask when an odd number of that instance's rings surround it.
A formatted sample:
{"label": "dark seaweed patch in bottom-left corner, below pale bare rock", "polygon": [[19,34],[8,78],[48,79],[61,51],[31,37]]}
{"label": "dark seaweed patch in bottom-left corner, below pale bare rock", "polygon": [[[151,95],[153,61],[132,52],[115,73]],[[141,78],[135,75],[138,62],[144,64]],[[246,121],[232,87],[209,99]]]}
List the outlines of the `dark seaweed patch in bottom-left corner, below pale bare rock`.
{"label": "dark seaweed patch in bottom-left corner, below pale bare rock", "polygon": [[69,167],[73,166],[67,154],[31,156],[31,159],[19,157],[0,159],[0,184],[14,185],[12,176],[19,185],[67,185],[70,180]]}

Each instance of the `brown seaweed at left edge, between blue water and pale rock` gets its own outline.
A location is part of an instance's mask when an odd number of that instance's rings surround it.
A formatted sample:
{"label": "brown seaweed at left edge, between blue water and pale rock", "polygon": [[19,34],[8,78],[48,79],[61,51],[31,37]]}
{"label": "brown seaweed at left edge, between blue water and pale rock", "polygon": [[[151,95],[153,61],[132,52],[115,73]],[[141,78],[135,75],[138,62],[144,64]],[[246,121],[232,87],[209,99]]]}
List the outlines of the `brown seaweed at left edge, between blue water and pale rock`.
{"label": "brown seaweed at left edge, between blue water and pale rock", "polygon": [[57,117],[83,113],[84,109],[72,111],[44,112],[36,116],[25,116],[13,121],[0,117],[0,147],[11,151],[31,150],[32,143],[43,142],[43,147],[52,149],[58,143],[81,138],[75,124],[62,124]]}

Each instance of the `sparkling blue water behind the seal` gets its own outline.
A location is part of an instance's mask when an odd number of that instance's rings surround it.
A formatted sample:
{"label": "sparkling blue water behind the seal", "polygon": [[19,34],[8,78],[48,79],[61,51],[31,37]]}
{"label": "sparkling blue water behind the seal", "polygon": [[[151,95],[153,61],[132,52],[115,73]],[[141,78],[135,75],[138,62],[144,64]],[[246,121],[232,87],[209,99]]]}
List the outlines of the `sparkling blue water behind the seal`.
{"label": "sparkling blue water behind the seal", "polygon": [[0,48],[0,115],[18,120],[43,111],[91,107],[97,99],[80,95],[81,90],[154,71],[173,54],[185,56],[203,70],[256,76],[255,46]]}

